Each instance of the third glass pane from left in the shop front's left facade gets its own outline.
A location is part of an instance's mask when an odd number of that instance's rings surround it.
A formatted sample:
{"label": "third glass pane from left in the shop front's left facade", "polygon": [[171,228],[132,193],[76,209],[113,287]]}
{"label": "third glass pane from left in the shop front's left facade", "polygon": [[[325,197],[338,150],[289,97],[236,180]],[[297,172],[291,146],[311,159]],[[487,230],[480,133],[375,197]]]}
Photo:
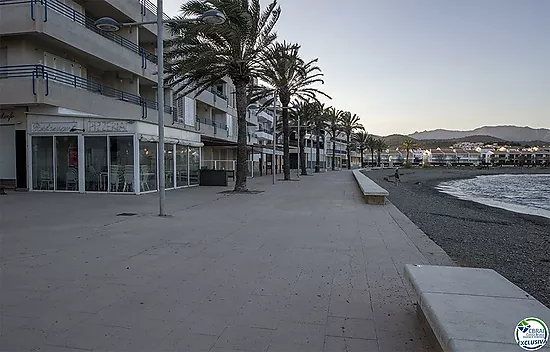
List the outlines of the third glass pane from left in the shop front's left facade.
{"label": "third glass pane from left in the shop front's left facade", "polygon": [[86,191],[108,190],[107,137],[84,137]]}

